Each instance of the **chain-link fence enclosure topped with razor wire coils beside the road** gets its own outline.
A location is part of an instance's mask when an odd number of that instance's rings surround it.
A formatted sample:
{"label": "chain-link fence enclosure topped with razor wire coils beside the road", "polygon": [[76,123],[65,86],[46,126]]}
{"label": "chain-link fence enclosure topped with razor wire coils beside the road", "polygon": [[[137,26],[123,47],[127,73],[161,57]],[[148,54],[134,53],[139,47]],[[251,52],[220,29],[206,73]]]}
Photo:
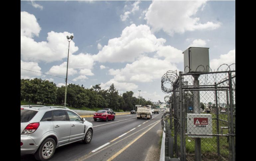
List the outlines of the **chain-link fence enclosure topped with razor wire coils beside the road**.
{"label": "chain-link fence enclosure topped with razor wire coils beside the road", "polygon": [[234,65],[179,76],[168,71],[162,77],[162,91],[171,95],[166,131],[174,137],[174,157],[235,160]]}

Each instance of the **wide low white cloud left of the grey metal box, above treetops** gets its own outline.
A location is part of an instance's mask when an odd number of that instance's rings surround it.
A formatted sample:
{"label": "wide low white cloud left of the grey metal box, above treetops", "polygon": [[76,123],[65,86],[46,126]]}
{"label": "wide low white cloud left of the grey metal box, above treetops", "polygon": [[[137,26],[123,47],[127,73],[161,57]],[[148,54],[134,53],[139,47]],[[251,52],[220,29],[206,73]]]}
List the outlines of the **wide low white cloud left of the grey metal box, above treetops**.
{"label": "wide low white cloud left of the grey metal box, above treetops", "polygon": [[143,56],[122,69],[110,69],[109,74],[118,82],[152,82],[161,79],[168,70],[176,69],[169,61]]}

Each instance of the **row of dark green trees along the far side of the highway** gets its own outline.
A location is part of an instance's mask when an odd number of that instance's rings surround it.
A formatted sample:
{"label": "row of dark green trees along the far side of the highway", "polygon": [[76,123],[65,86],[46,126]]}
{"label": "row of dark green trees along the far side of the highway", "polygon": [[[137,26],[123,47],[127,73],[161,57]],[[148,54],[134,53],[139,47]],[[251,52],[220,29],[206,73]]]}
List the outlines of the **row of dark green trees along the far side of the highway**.
{"label": "row of dark green trees along the far side of the highway", "polygon": [[[133,97],[132,91],[122,95],[112,84],[109,89],[101,89],[100,84],[92,88],[83,85],[67,85],[66,107],[76,110],[97,111],[110,108],[115,112],[131,111],[135,105],[153,105],[144,98]],[[21,79],[21,105],[64,106],[65,86],[57,87],[55,83],[41,78]]]}

